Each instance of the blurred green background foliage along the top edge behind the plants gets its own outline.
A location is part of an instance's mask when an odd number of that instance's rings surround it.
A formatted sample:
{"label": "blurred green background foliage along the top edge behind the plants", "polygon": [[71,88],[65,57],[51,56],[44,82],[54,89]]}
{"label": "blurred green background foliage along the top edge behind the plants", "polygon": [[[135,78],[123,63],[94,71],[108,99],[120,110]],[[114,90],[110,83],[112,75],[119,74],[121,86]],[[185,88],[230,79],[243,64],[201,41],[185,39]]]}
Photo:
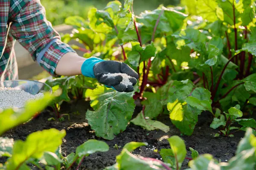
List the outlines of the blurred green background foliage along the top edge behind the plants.
{"label": "blurred green background foliage along the top edge behind the plants", "polygon": [[[46,9],[46,17],[53,26],[64,23],[67,17],[78,15],[87,18],[87,12],[93,6],[104,8],[111,0],[41,0]],[[122,1],[121,1],[122,2]],[[154,10],[160,4],[164,6],[178,5],[180,0],[137,0],[134,2],[134,13]],[[122,2],[123,3],[123,2]]]}

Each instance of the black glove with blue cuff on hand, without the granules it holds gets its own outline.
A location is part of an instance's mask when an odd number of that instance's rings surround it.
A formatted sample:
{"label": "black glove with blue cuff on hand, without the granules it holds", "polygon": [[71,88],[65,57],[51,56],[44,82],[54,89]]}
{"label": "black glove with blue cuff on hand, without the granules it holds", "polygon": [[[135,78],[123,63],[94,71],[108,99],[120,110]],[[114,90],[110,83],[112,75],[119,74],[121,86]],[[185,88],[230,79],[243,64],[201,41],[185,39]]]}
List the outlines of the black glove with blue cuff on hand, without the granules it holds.
{"label": "black glove with blue cuff on hand, without the granules it holds", "polygon": [[[97,57],[90,57],[84,61],[81,66],[81,73],[85,77],[96,78],[98,82],[104,84],[108,88],[113,88],[119,92],[131,92],[134,91],[134,85],[137,83],[139,75],[127,64],[119,61],[99,59]],[[120,82],[123,80],[122,75],[113,77],[105,76],[108,73],[123,73],[131,76],[129,78],[132,85],[124,85]]]}

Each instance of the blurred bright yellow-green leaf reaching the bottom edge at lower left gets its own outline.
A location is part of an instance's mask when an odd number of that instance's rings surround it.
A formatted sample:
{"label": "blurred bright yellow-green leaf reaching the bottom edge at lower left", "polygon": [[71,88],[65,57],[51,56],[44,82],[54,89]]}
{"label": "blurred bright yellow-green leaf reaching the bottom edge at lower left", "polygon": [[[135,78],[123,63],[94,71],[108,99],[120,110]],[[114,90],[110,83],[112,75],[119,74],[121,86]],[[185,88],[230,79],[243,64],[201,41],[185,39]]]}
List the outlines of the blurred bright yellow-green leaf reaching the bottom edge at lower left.
{"label": "blurred bright yellow-green leaf reaching the bottom edge at lower left", "polygon": [[15,170],[26,165],[29,158],[41,159],[46,151],[55,152],[65,135],[65,130],[49,129],[31,133],[24,142],[15,141],[12,157],[7,161],[7,169]]}

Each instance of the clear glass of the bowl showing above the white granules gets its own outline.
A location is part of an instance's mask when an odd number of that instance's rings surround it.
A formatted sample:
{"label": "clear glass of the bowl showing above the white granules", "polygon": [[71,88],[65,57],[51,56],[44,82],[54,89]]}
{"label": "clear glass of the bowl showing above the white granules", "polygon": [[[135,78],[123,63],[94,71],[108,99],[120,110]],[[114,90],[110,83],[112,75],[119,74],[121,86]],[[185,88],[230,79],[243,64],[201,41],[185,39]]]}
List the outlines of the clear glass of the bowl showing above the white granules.
{"label": "clear glass of the bowl showing above the white granules", "polygon": [[49,85],[35,80],[6,80],[0,82],[0,88],[20,89],[32,95],[46,92],[52,94],[52,88]]}

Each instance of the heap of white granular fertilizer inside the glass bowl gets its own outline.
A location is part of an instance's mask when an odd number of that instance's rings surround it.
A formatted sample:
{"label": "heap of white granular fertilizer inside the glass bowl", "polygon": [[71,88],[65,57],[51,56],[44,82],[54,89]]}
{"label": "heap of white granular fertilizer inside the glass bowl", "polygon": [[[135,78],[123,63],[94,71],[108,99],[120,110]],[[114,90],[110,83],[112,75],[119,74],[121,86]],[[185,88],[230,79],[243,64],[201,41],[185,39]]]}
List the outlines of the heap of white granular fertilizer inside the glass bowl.
{"label": "heap of white granular fertilizer inside the glass bowl", "polygon": [[32,95],[20,89],[0,87],[0,109],[23,108],[28,100],[35,100],[43,96],[43,93]]}

